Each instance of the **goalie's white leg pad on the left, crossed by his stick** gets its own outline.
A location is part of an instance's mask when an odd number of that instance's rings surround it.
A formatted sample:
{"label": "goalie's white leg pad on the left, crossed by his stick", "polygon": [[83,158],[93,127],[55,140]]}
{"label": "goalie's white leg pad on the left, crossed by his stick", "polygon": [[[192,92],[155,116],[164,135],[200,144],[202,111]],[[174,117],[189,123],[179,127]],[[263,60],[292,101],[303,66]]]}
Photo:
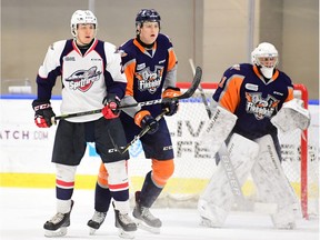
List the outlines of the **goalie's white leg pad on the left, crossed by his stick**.
{"label": "goalie's white leg pad on the left, crossed by his stick", "polygon": [[[229,164],[232,164],[236,172],[233,178],[237,178],[233,181],[239,181],[240,186],[242,186],[254,163],[259,147],[254,141],[233,133],[228,144],[228,151],[230,154]],[[233,186],[232,178],[230,178],[231,174],[228,171],[228,166],[223,166],[220,162],[200,196],[198,211],[202,219],[210,220],[210,223],[206,226],[221,227],[224,223],[227,214],[234,202],[234,194],[231,189]]]}

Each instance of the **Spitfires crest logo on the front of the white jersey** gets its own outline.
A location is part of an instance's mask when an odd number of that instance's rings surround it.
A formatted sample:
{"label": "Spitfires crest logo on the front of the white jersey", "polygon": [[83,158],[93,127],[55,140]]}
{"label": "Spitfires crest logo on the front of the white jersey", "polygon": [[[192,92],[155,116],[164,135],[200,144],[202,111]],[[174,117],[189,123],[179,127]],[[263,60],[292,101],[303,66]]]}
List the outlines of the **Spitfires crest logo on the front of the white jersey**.
{"label": "Spitfires crest logo on the front of the white jersey", "polygon": [[101,71],[98,71],[94,66],[89,70],[73,72],[70,77],[66,78],[66,81],[69,82],[69,89],[86,92],[92,87],[94,81],[100,79],[100,76]]}

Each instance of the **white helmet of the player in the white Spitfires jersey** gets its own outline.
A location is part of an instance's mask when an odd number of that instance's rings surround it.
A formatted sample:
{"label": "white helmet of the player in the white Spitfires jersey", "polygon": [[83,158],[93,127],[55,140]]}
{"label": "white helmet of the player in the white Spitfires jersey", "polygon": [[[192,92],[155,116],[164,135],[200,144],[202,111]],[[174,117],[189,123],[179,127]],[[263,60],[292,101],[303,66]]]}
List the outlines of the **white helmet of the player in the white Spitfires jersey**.
{"label": "white helmet of the player in the white Spitfires jersey", "polygon": [[77,24],[79,23],[91,23],[98,28],[98,21],[96,16],[90,10],[77,10],[71,17],[71,33],[77,37]]}

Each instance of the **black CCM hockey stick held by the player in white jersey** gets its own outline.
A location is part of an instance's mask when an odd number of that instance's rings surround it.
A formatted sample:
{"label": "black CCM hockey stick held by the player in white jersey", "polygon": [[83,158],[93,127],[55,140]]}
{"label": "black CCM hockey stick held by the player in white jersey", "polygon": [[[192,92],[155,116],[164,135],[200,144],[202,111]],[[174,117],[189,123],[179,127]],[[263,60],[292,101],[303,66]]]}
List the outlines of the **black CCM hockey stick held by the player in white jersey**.
{"label": "black CCM hockey stick held by the player in white jersey", "polygon": [[[137,103],[132,103],[132,104],[120,106],[118,109],[126,109],[126,108],[132,108],[132,107],[138,107],[138,106],[140,106],[140,107],[152,106],[152,104],[172,102],[172,101],[190,98],[190,97],[192,97],[192,94],[197,90],[198,86],[200,84],[201,78],[202,78],[202,69],[200,67],[197,67],[196,74],[193,77],[191,87],[186,92],[183,92],[181,96],[173,97],[173,98],[154,99],[154,100],[137,102]],[[60,119],[74,118],[74,117],[81,117],[81,116],[88,116],[88,114],[96,114],[96,113],[100,113],[101,111],[102,111],[102,109],[96,109],[96,110],[91,110],[91,111],[61,114],[61,116],[53,117],[51,121],[56,122],[57,120],[60,120]]]}

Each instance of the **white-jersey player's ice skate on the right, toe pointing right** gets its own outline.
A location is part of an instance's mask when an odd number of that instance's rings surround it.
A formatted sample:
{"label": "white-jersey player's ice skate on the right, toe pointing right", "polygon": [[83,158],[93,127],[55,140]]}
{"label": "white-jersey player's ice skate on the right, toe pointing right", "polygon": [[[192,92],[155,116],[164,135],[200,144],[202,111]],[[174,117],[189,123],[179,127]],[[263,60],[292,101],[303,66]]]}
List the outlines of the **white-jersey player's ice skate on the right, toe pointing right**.
{"label": "white-jersey player's ice skate on the right, toe pointing right", "polygon": [[[114,204],[113,204],[114,208]],[[114,209],[116,227],[119,229],[119,237],[126,239],[133,239],[137,231],[137,224],[128,213],[122,214]]]}

